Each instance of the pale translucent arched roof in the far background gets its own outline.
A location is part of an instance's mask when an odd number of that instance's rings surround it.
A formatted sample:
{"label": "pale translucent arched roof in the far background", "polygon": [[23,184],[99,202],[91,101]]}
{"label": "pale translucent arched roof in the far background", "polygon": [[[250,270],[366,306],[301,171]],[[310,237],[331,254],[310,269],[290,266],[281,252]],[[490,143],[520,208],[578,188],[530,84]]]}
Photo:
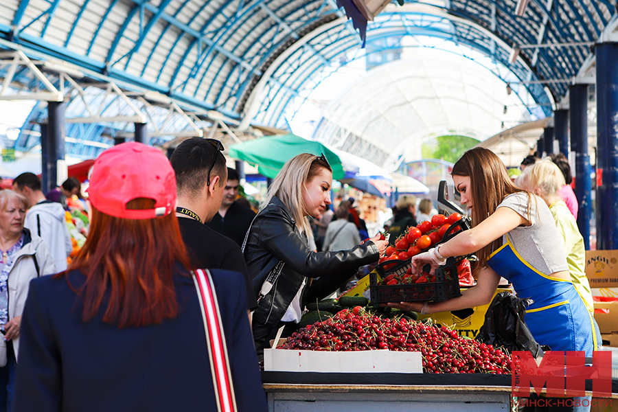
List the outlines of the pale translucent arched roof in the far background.
{"label": "pale translucent arched roof in the far background", "polygon": [[401,60],[376,67],[323,109],[314,139],[393,170],[420,159],[440,135],[484,140],[534,119],[503,80],[466,58]]}

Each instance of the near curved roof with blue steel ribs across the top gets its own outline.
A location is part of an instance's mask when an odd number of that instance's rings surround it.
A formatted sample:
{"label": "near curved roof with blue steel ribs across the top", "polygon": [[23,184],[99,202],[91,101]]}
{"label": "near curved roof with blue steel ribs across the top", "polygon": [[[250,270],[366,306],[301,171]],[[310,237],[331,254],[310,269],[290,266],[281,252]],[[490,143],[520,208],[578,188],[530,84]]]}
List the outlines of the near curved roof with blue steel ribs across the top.
{"label": "near curved roof with blue steel ribs across the top", "polygon": [[[432,3],[433,5],[428,5]],[[572,78],[616,14],[610,0],[424,0],[389,5],[367,41],[417,34],[445,38],[509,67],[536,104],[538,80]],[[509,63],[514,47],[522,48]],[[0,47],[77,65],[89,78],[154,90],[216,109],[248,126],[286,126],[284,113],[316,73],[361,44],[334,0],[6,0]],[[18,73],[19,74],[19,73]],[[4,73],[0,73],[3,78]],[[18,76],[19,78],[19,76]],[[27,86],[27,85],[26,85]],[[553,100],[566,82],[551,82]]]}

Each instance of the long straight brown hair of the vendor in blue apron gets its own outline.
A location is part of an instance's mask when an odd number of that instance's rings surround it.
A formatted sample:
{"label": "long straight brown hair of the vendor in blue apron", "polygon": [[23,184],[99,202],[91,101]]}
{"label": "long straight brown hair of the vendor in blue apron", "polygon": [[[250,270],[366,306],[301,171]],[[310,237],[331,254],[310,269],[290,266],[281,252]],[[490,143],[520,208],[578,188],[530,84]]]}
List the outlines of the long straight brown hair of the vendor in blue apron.
{"label": "long straight brown hair of the vendor in blue apron", "polygon": [[[528,195],[528,216],[531,210],[531,194],[514,185],[507,173],[504,163],[491,150],[472,148],[464,153],[453,165],[455,176],[470,176],[472,191],[472,227],[496,211],[498,205],[510,194],[523,192]],[[493,251],[502,246],[502,238],[477,251],[481,266],[485,266]]]}

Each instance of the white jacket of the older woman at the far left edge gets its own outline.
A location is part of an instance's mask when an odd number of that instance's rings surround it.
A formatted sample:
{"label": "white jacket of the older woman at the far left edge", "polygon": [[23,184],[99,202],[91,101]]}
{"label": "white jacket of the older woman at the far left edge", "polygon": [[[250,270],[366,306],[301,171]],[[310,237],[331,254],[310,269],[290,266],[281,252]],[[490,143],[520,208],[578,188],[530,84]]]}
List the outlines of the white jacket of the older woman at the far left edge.
{"label": "white jacket of the older woman at the far left edge", "polygon": [[[21,316],[25,306],[30,280],[43,275],[56,273],[56,266],[43,239],[31,235],[24,229],[23,247],[13,259],[13,266],[8,274],[8,320]],[[36,264],[34,260],[36,259]],[[37,270],[38,265],[38,270]],[[13,339],[15,359],[19,354],[19,336]],[[0,366],[6,365],[6,342],[0,339]]]}

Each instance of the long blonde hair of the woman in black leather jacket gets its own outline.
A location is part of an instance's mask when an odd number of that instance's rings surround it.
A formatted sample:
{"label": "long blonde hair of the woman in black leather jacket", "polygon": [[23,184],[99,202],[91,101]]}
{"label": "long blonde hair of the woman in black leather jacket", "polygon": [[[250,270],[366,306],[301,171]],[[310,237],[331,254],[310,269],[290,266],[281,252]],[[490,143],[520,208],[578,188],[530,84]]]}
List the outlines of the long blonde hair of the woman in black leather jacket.
{"label": "long blonde hair of the woman in black leather jacket", "polygon": [[268,188],[268,195],[262,203],[262,209],[271,202],[273,196],[277,196],[296,220],[299,232],[307,237],[313,237],[309,220],[305,216],[306,205],[303,190],[306,189],[306,183],[310,182],[322,169],[332,172],[328,163],[321,157],[310,153],[301,153],[288,160],[271,183],[271,187]]}

